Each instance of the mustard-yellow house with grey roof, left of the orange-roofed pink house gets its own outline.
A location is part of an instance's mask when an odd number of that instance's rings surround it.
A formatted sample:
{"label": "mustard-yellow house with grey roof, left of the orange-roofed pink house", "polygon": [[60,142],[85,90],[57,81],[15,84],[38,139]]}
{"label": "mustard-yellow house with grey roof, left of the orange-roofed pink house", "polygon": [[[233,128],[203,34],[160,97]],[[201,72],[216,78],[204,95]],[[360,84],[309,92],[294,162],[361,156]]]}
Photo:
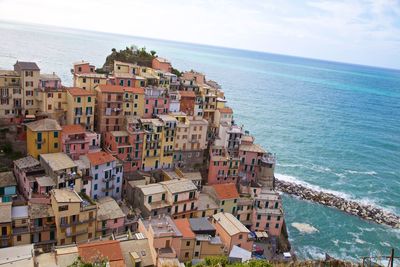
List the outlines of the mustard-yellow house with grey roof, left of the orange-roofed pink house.
{"label": "mustard-yellow house with grey roof, left of the orange-roofed pink house", "polygon": [[43,119],[26,124],[27,153],[39,159],[40,154],[61,151],[61,126],[56,120]]}

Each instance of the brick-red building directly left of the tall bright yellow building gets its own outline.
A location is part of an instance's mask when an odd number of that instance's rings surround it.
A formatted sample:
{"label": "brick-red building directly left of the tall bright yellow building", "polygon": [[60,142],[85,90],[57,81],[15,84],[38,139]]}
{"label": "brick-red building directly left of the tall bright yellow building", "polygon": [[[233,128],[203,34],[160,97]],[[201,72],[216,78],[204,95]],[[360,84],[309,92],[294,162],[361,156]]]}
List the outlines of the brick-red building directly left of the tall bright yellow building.
{"label": "brick-red building directly left of the tall bright yellow building", "polygon": [[125,131],[105,133],[104,149],[123,162],[124,173],[132,173],[142,166],[143,136],[136,119],[129,119]]}

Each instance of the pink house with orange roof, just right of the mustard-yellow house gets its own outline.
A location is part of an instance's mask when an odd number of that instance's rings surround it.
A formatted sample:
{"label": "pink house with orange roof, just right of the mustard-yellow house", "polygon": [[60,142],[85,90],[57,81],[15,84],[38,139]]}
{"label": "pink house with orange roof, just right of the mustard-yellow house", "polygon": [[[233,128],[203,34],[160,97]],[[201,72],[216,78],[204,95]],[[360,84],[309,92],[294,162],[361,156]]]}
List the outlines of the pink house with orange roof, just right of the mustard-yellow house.
{"label": "pink house with orange roof, just right of the mustard-yellow house", "polygon": [[62,151],[73,160],[87,153],[100,151],[100,135],[85,130],[79,124],[65,125],[61,134]]}

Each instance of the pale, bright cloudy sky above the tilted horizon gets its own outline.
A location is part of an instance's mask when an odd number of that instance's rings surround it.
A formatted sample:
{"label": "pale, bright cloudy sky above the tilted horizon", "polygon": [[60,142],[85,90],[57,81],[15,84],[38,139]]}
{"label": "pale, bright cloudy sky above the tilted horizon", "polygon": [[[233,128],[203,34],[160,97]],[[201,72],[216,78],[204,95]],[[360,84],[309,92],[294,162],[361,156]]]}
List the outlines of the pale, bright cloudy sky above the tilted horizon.
{"label": "pale, bright cloudy sky above the tilted horizon", "polygon": [[0,0],[0,20],[400,69],[400,0]]}

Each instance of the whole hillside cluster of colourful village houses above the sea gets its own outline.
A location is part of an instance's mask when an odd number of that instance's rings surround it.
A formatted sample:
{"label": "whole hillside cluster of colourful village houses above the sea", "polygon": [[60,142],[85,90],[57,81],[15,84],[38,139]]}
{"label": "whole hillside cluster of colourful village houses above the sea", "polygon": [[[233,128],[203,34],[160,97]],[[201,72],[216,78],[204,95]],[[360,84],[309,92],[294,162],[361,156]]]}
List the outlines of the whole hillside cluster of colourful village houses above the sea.
{"label": "whole hillside cluster of colourful village houses above the sea", "polygon": [[107,75],[82,61],[73,87],[33,62],[0,70],[0,120],[20,126],[27,153],[0,173],[0,255],[159,266],[251,257],[255,239],[281,234],[275,156],[216,82],[171,70],[159,57]]}

